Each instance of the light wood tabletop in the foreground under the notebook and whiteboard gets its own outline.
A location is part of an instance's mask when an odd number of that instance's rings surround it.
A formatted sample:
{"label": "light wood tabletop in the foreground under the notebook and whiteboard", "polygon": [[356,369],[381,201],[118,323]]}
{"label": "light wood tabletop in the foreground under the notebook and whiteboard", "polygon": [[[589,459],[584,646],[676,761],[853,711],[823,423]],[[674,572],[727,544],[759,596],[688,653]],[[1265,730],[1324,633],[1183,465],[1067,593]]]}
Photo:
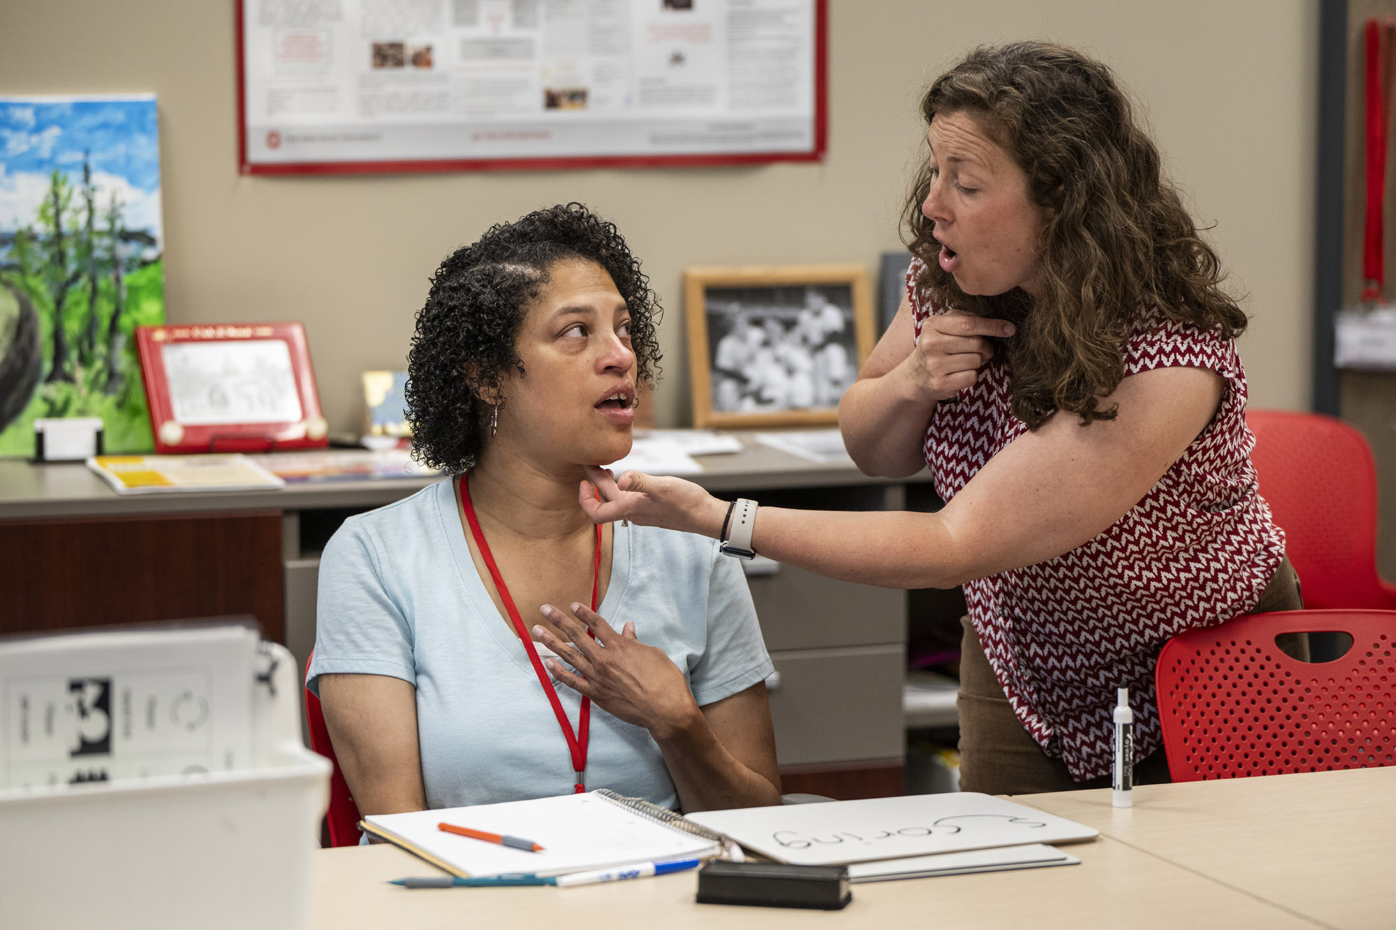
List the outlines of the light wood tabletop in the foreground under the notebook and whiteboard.
{"label": "light wood tabletop in the foreground under the notebook and whiteboard", "polygon": [[856,885],[842,912],[694,902],[692,873],[582,888],[408,891],[392,846],[315,853],[314,927],[1389,927],[1396,768],[1019,797],[1101,829],[1079,866]]}

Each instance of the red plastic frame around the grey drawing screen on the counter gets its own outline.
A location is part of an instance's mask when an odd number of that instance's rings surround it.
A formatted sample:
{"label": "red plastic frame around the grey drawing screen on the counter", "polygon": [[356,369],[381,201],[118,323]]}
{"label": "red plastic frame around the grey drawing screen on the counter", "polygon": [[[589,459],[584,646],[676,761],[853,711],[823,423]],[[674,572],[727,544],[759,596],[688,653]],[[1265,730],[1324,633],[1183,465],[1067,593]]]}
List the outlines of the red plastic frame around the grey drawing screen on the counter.
{"label": "red plastic frame around the grey drawing screen on the counter", "polygon": [[[161,346],[172,342],[230,342],[283,339],[290,350],[290,369],[300,395],[302,419],[293,423],[216,423],[184,426],[174,420],[169,378]],[[306,328],[299,323],[209,323],[191,325],[137,327],[135,348],[141,356],[141,380],[151,406],[155,451],[170,452],[265,452],[295,448],[324,448],[328,429],[320,411],[315,371],[310,367]],[[177,430],[166,430],[173,423]],[[174,436],[179,433],[179,436]],[[173,440],[173,441],[172,441]]]}

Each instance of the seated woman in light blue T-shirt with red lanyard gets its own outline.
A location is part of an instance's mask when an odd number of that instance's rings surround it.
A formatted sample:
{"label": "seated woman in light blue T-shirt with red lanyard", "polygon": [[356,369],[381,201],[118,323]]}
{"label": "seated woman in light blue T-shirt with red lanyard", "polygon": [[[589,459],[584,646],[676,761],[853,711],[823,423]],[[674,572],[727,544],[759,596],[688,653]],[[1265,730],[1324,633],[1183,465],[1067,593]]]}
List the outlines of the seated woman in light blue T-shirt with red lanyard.
{"label": "seated woman in light blue T-shirt with red lanyard", "polygon": [[577,499],[588,465],[630,451],[656,311],[579,204],[494,226],[433,278],[408,416],[415,455],[451,478],[349,518],[320,563],[307,686],[362,813],[592,788],[780,803],[772,665],[736,560],[593,526]]}

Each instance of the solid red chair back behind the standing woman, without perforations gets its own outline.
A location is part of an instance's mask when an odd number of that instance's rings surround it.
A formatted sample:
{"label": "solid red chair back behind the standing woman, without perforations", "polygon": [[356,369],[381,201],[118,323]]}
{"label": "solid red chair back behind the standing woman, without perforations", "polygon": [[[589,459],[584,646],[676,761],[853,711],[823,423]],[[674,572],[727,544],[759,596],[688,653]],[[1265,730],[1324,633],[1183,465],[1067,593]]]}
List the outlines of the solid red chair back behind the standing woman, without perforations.
{"label": "solid red chair back behind the standing woman, without perforations", "polygon": [[1376,574],[1376,466],[1354,427],[1322,413],[1251,411],[1251,461],[1305,607],[1396,610]]}

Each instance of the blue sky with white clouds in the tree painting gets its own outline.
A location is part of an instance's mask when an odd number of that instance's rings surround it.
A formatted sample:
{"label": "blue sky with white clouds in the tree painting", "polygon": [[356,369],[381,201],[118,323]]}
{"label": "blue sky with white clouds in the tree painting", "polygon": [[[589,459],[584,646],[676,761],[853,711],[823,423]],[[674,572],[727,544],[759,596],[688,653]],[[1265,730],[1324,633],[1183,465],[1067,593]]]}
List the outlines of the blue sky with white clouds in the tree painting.
{"label": "blue sky with white clouds in the tree painting", "polygon": [[126,226],[161,236],[161,161],[154,95],[138,98],[0,96],[0,230],[34,222],[57,168],[82,182],[91,154],[98,198],[116,194]]}

